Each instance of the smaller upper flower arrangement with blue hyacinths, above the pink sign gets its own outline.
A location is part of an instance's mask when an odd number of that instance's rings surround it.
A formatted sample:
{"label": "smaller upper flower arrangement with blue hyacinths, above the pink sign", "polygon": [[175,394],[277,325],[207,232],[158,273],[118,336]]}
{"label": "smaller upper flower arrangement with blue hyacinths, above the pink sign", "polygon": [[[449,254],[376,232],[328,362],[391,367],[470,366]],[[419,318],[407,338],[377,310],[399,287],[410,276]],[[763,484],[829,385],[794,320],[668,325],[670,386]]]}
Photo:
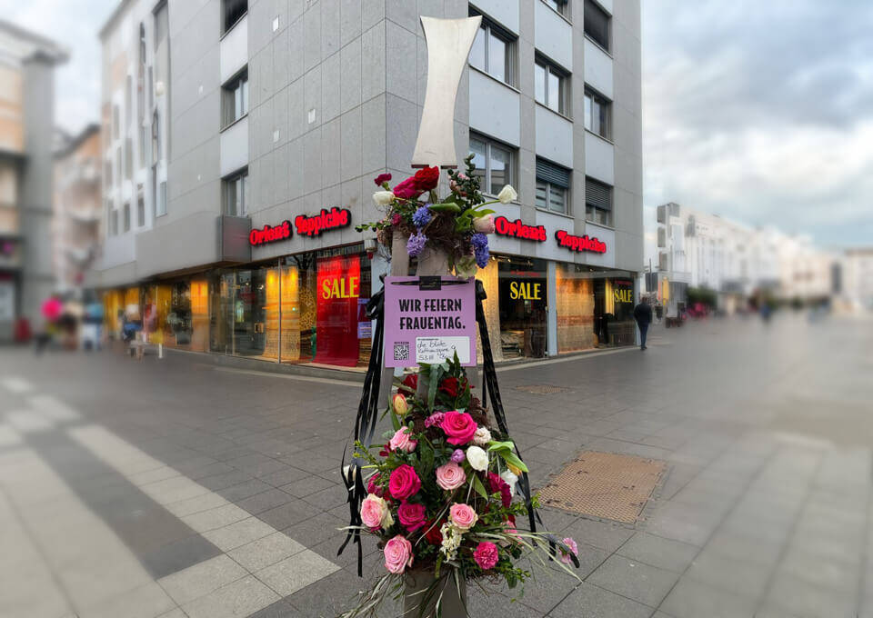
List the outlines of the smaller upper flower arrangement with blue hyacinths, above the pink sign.
{"label": "smaller upper flower arrangement with blue hyacinths, above the pink sign", "polygon": [[[489,204],[508,204],[517,198],[516,190],[507,184],[497,200],[486,202],[479,192],[479,181],[473,174],[476,165],[471,154],[465,160],[467,174],[449,170],[449,194],[439,199],[439,168],[425,167],[398,183],[392,189],[391,174],[379,174],[374,179],[381,187],[373,194],[374,203],[385,209],[385,216],[375,222],[356,226],[358,232],[373,230],[376,240],[388,250],[395,234],[408,238],[406,252],[417,257],[426,247],[443,251],[449,266],[458,276],[471,277],[477,267],[488,263],[487,234],[494,232],[494,211]],[[424,199],[424,201],[422,201]]]}

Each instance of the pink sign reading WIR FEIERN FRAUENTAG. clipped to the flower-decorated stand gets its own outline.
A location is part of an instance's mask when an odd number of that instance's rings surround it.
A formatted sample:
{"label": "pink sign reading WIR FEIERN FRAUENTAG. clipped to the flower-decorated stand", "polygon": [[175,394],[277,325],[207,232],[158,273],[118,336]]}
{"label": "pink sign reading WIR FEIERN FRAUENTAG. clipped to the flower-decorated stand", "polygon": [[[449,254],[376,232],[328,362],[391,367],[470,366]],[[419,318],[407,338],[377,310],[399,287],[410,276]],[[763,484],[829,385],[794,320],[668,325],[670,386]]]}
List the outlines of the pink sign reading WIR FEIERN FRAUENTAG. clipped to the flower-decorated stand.
{"label": "pink sign reading WIR FEIERN FRAUENTAG. clipped to the flower-decorated stand", "polygon": [[385,366],[412,367],[457,358],[476,364],[476,283],[443,277],[419,289],[418,277],[385,278]]}

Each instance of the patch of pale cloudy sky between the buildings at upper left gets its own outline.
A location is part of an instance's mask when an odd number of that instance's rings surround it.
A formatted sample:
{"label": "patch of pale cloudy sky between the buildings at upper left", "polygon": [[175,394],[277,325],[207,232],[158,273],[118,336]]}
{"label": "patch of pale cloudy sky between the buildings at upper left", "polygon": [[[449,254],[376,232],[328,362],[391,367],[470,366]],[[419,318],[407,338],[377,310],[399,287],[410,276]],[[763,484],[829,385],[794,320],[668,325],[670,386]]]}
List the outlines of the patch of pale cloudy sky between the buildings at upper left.
{"label": "patch of pale cloudy sky between the buildings at upper left", "polygon": [[70,53],[55,73],[55,122],[70,133],[100,117],[101,48],[97,31],[120,0],[0,0],[0,15]]}

